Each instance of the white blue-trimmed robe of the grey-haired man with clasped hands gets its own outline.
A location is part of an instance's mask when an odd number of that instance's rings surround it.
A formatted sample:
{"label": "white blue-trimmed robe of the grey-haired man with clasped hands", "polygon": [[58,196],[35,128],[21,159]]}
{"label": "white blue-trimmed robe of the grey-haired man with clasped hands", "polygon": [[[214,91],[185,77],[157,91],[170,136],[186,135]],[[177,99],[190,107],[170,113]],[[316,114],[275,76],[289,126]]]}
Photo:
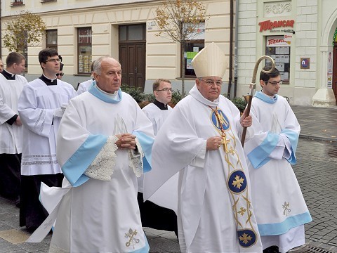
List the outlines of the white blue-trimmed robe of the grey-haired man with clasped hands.
{"label": "white blue-trimmed robe of the grey-haired man with clasped hands", "polygon": [[91,89],[70,101],[60,124],[58,161],[67,179],[54,190],[67,190],[55,198],[60,205],[47,208],[51,215],[58,212],[50,252],[148,252],[131,152],[115,148],[102,156],[98,168],[112,169],[110,181],[85,173],[108,136],[122,133],[137,136],[144,170],[150,169],[152,124],[127,93],[119,90],[115,100],[96,86]]}

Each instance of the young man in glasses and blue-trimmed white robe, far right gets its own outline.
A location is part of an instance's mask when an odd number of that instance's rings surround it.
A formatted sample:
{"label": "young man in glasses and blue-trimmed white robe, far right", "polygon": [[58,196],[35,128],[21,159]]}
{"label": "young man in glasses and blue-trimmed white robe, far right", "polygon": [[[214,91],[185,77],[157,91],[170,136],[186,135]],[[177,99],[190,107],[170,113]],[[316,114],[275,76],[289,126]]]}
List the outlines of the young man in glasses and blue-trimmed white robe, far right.
{"label": "young man in glasses and blue-trimmed white robe, far right", "polygon": [[312,221],[291,168],[296,163],[300,125],[286,98],[277,94],[281,84],[279,70],[260,72],[262,91],[256,92],[251,103],[256,134],[244,145],[265,253],[288,252],[303,245],[304,224]]}

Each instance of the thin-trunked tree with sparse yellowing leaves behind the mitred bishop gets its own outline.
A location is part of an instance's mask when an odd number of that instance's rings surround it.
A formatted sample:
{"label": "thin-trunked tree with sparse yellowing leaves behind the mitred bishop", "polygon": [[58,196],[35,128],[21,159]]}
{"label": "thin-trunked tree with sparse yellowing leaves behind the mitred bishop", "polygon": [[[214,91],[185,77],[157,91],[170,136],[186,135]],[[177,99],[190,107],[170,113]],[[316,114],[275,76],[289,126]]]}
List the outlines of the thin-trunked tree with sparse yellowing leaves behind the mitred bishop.
{"label": "thin-trunked tree with sparse yellowing leaves behind the mitred bishop", "polygon": [[204,5],[197,0],[164,0],[156,8],[154,20],[160,31],[157,36],[172,39],[180,44],[181,91],[185,96],[185,58],[183,55],[185,44],[197,36],[195,32],[200,22],[206,20]]}

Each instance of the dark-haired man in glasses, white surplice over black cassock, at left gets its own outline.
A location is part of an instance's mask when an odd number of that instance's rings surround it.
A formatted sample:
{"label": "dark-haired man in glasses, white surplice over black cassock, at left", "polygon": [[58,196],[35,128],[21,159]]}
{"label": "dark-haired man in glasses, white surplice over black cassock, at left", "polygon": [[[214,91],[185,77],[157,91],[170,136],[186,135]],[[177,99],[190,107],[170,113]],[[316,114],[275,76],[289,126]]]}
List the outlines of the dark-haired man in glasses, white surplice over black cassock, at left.
{"label": "dark-haired man in glasses, white surplice over black cassock, at left", "polygon": [[41,182],[61,186],[63,175],[56,160],[56,135],[61,117],[71,98],[77,96],[71,84],[56,78],[60,70],[58,51],[39,52],[43,74],[22,89],[18,111],[23,130],[22,195],[20,226],[34,231],[48,212],[39,202]]}

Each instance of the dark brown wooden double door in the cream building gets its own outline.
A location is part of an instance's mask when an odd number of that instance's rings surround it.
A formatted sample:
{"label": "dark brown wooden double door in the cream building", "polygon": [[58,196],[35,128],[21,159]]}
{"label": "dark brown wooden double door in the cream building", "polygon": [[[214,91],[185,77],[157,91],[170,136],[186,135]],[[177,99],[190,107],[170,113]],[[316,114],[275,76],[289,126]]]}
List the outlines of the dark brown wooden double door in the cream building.
{"label": "dark brown wooden double door in the cream building", "polygon": [[129,86],[145,86],[145,42],[119,44],[121,82]]}

